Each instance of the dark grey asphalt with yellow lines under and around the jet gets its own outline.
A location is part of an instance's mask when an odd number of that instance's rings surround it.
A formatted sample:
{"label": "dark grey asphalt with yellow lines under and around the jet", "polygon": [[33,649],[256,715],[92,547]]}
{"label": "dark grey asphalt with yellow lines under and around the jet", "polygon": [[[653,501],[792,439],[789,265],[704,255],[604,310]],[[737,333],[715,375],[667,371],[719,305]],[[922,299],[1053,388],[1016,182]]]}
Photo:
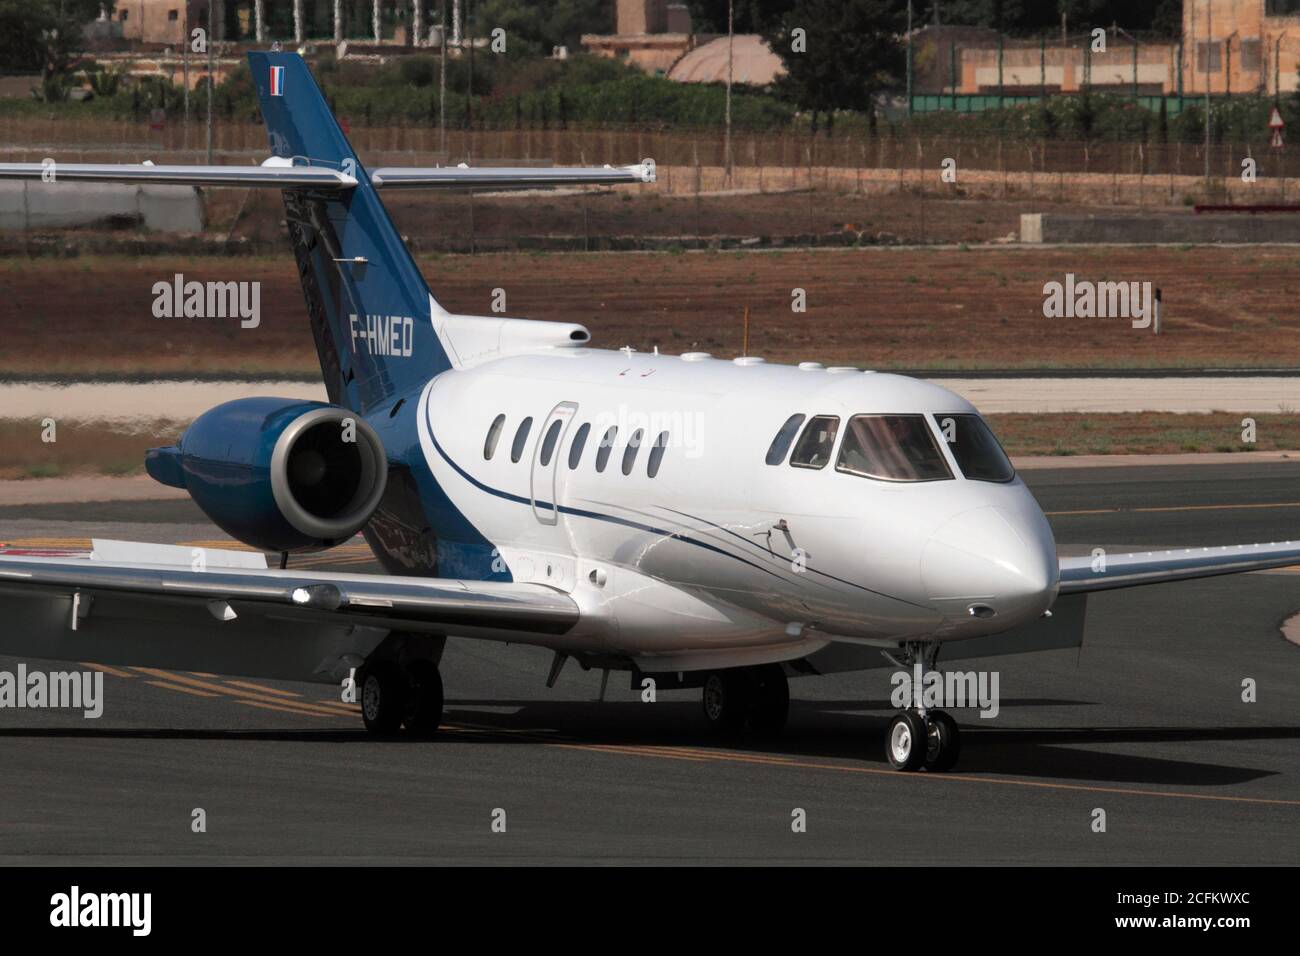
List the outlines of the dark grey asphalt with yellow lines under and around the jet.
{"label": "dark grey asphalt with yellow lines under and around the jet", "polygon": [[[1062,551],[1300,538],[1300,462],[1024,475]],[[221,537],[186,501],[0,507],[0,541],[91,535]],[[328,687],[113,669],[98,721],[0,710],[0,862],[1295,864],[1297,610],[1290,571],[1095,596],[1082,652],[971,665],[1001,713],[953,711],[949,774],[889,770],[883,670],[796,679],[786,735],[729,747],[698,692],[597,704],[572,663],[547,691],[530,648],[450,641],[434,741],[368,739]]]}

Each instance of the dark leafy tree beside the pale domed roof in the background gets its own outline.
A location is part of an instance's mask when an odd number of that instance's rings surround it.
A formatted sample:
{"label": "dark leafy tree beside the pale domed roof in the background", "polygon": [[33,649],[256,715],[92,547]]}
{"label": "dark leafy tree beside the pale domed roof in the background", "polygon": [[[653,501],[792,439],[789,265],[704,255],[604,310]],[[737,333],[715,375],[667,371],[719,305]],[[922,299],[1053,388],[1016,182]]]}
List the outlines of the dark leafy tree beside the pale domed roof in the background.
{"label": "dark leafy tree beside the pale domed roof in the background", "polygon": [[785,65],[777,92],[811,111],[814,130],[819,113],[870,109],[900,82],[905,10],[890,0],[798,0],[764,36]]}

